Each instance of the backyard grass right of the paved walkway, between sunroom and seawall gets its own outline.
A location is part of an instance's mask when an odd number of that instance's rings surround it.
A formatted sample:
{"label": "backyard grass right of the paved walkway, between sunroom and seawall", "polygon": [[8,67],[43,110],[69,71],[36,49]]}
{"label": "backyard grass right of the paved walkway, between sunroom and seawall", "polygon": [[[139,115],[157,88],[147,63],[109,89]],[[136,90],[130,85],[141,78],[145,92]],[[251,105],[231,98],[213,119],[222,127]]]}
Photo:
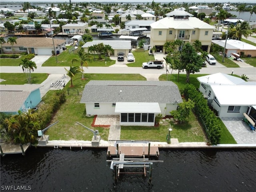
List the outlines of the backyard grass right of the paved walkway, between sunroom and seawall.
{"label": "backyard grass right of the paved walkway, between sunroom and seawall", "polygon": [[158,127],[153,126],[121,126],[121,140],[159,140],[166,142],[168,129],[172,125],[171,138],[179,142],[206,142],[206,136],[198,123],[196,116],[190,113],[182,124],[174,124],[172,120],[165,121]]}

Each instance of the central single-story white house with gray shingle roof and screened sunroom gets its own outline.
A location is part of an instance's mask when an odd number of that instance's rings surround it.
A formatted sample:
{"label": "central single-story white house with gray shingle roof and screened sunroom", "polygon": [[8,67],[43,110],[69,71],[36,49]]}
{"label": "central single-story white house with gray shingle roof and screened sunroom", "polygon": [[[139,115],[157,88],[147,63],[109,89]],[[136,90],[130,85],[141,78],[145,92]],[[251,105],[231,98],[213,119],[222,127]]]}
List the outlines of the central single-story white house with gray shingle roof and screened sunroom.
{"label": "central single-story white house with gray shingle roof and screened sunroom", "polygon": [[91,80],[80,103],[87,115],[120,115],[121,125],[154,126],[155,116],[169,115],[182,102],[178,86],[170,81]]}

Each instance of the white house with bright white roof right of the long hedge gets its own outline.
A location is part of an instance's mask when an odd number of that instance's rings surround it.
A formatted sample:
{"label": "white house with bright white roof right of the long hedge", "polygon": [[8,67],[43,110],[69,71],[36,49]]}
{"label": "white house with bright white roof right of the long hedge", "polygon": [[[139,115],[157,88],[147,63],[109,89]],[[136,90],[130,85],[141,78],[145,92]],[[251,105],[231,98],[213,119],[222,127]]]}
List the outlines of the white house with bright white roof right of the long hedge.
{"label": "white house with bright white roof right of the long hedge", "polygon": [[220,117],[243,117],[248,108],[256,105],[256,82],[216,73],[197,78],[199,90]]}

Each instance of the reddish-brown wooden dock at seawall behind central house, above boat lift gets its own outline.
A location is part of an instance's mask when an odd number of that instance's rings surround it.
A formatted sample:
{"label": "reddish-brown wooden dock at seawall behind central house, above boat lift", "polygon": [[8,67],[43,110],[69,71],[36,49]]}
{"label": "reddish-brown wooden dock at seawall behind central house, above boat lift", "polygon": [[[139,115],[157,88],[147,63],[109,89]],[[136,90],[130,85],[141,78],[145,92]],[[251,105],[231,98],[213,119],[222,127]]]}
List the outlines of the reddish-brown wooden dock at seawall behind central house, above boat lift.
{"label": "reddish-brown wooden dock at seawall behind central house, above boat lift", "polygon": [[[108,146],[108,156],[118,156],[117,147]],[[124,154],[126,157],[148,156],[148,146],[118,146],[118,154]],[[157,146],[150,146],[149,156],[158,157],[159,149]]]}

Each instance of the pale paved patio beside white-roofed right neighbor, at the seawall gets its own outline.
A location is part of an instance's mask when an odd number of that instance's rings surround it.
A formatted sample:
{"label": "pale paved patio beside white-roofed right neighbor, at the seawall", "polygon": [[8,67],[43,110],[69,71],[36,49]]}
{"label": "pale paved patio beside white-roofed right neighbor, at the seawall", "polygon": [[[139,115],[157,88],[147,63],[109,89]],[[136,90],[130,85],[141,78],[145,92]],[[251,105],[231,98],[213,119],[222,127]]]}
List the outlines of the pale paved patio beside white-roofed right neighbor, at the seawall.
{"label": "pale paved patio beside white-roofed right neighbor, at the seawall", "polygon": [[238,144],[256,144],[256,132],[240,118],[220,118]]}

